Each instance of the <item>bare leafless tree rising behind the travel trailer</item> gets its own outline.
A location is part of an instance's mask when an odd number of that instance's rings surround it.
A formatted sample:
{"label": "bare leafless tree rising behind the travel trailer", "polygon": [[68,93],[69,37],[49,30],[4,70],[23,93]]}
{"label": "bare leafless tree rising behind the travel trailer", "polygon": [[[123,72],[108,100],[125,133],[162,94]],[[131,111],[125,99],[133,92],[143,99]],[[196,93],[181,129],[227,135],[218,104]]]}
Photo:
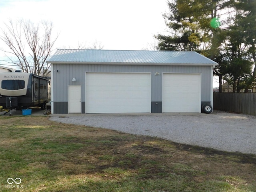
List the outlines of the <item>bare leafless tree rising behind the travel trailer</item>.
{"label": "bare leafless tree rising behind the travel trailer", "polygon": [[[10,63],[16,64],[23,72],[41,76],[50,74],[50,64],[46,59],[51,53],[56,38],[52,38],[52,22],[42,21],[34,24],[30,20],[9,20],[4,24],[0,39],[8,46],[0,50],[8,55],[14,55],[15,60],[8,56]],[[7,55],[8,54],[8,55]]]}

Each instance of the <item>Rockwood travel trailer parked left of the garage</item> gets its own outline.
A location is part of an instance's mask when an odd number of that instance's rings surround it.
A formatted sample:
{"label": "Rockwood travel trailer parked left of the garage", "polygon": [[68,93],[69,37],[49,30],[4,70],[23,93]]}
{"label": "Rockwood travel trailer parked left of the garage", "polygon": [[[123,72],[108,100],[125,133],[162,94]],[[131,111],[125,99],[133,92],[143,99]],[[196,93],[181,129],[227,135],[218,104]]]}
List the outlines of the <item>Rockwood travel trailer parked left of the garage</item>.
{"label": "Rockwood travel trailer parked left of the garage", "polygon": [[33,106],[46,108],[50,101],[50,79],[31,73],[0,73],[0,106],[17,110]]}

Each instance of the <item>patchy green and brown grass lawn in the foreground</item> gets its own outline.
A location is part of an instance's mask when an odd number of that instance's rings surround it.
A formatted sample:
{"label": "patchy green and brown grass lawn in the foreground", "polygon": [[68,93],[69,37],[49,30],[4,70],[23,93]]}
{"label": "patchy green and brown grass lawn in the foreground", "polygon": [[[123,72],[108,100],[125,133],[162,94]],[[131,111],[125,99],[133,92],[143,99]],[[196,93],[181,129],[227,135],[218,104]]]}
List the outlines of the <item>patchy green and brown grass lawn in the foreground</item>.
{"label": "patchy green and brown grass lawn in the foreground", "polygon": [[47,116],[0,116],[0,123],[1,192],[256,192],[252,154]]}

